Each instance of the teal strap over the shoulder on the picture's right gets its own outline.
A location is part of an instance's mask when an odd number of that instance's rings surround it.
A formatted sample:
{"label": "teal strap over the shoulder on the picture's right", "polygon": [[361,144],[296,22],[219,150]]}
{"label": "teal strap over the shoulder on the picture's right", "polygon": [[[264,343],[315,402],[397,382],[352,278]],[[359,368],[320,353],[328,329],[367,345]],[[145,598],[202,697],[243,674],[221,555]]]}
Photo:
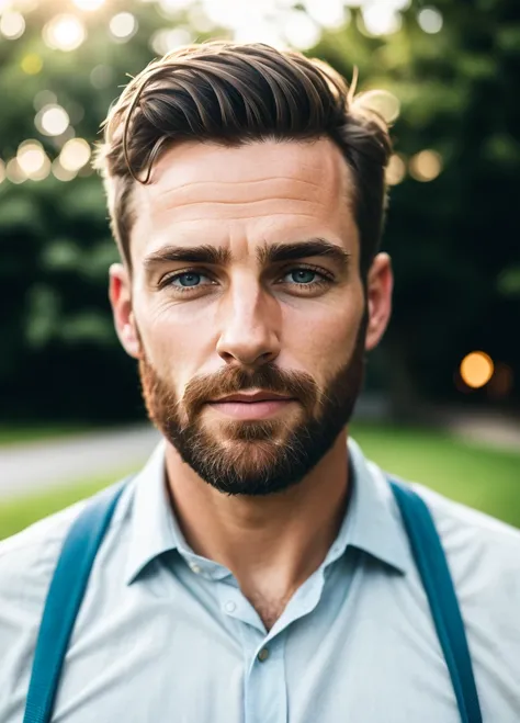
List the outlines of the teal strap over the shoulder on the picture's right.
{"label": "teal strap over the shoulder on the picture's right", "polygon": [[461,720],[463,723],[482,723],[464,622],[433,518],[426,502],[410,487],[395,479],[389,483],[430,603]]}

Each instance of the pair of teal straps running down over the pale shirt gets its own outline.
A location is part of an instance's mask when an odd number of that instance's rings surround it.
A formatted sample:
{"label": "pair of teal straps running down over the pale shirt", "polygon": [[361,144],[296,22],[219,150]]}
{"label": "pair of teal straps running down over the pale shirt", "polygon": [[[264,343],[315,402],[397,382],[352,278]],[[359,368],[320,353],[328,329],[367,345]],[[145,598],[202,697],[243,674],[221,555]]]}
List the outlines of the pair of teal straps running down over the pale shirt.
{"label": "pair of teal straps running down over the pale shirt", "polygon": [[[42,618],[23,723],[50,723],[58,681],[92,565],[126,479],[97,495],[72,524]],[[467,641],[448,563],[428,507],[391,481],[450,670],[462,723],[482,723]]]}

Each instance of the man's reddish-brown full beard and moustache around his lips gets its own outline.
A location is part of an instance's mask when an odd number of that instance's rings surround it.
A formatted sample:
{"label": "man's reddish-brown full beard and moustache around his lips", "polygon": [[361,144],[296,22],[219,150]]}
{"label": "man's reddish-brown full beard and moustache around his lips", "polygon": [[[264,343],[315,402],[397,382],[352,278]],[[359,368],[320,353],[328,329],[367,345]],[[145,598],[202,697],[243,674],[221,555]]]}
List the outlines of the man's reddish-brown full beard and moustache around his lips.
{"label": "man's reddish-brown full beard and moustache around his lips", "polygon": [[[194,377],[178,398],[142,344],[139,376],[148,417],[183,462],[218,492],[264,496],[287,489],[316,466],[352,416],[364,379],[366,323],[365,314],[350,359],[323,389],[309,374],[273,363],[229,365]],[[291,413],[262,420],[223,418],[212,430],[203,419],[206,404],[252,388],[295,399],[296,419]]]}

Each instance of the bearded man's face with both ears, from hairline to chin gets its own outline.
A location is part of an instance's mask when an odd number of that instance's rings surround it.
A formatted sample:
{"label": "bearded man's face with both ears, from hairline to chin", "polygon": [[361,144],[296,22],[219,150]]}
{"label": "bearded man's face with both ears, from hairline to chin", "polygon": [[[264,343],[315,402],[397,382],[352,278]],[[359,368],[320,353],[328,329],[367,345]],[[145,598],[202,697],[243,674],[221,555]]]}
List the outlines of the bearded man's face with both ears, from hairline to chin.
{"label": "bearded man's face with both ears, from hairline to chin", "polygon": [[135,189],[116,326],[150,418],[222,492],[298,482],[351,416],[392,286],[382,258],[365,298],[352,196],[327,139],[186,143]]}

